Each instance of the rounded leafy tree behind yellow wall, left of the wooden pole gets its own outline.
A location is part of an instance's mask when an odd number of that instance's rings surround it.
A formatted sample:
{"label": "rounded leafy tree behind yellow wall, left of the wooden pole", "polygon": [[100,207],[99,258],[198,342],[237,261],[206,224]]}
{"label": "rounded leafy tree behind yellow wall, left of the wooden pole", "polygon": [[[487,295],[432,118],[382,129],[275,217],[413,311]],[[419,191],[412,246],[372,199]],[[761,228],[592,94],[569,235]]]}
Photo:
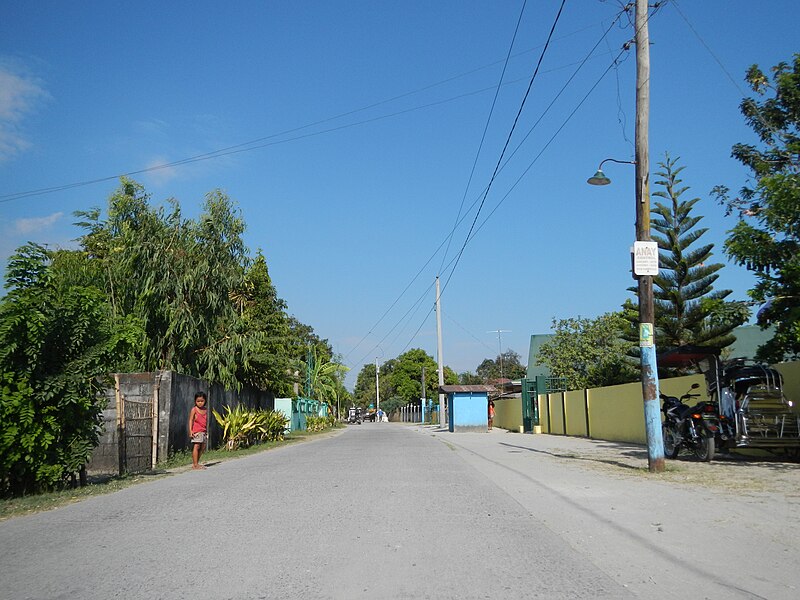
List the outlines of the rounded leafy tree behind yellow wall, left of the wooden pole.
{"label": "rounded leafy tree behind yellow wall, left of the wooden pole", "polygon": [[635,381],[638,372],[627,357],[632,344],[623,338],[627,327],[621,313],[553,319],[553,337],[539,348],[536,363],[565,377],[570,390]]}

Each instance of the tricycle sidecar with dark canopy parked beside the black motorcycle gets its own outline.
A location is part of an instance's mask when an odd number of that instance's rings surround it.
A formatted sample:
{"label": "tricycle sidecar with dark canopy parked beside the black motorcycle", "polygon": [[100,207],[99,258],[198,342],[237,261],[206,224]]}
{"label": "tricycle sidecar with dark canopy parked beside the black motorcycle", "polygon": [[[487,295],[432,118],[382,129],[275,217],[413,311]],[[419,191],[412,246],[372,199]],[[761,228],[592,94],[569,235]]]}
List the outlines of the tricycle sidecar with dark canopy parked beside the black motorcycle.
{"label": "tricycle sidecar with dark canopy parked beside the black motorcycle", "polygon": [[776,369],[741,358],[722,361],[718,349],[698,346],[670,350],[659,357],[659,365],[693,365],[704,374],[719,419],[717,449],[800,453],[800,412],[786,398]]}

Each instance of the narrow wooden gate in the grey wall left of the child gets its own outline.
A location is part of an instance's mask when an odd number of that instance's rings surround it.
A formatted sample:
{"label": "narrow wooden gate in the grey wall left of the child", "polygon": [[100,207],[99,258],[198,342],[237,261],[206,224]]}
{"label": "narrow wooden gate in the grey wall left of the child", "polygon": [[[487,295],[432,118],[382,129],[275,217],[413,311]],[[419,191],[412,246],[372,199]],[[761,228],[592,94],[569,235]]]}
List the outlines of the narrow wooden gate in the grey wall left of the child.
{"label": "narrow wooden gate in the grey wall left of the child", "polygon": [[116,383],[119,472],[148,471],[156,458],[158,386],[152,396],[133,396],[120,393],[119,380]]}

